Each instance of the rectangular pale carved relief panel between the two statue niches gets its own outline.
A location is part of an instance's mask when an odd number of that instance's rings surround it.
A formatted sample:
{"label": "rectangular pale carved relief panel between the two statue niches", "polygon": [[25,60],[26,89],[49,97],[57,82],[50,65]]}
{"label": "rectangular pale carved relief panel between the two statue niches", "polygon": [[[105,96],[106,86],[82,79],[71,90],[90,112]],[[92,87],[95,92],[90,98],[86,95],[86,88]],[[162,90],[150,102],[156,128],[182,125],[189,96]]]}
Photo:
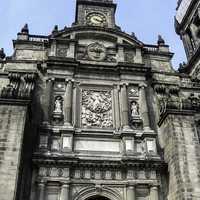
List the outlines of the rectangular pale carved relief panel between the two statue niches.
{"label": "rectangular pale carved relief panel between the two statue niches", "polygon": [[112,128],[111,91],[82,91],[81,122],[83,127]]}

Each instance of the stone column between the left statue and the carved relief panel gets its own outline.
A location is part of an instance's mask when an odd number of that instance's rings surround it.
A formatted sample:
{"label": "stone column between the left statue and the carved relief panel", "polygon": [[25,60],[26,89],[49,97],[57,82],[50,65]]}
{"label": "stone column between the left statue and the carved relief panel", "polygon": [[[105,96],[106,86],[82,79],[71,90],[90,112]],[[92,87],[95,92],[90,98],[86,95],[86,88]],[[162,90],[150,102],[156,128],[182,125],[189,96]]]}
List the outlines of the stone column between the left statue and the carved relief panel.
{"label": "stone column between the left statue and the carved relief panel", "polygon": [[66,126],[72,126],[72,81],[67,81],[65,92],[65,111],[64,111],[64,123]]}

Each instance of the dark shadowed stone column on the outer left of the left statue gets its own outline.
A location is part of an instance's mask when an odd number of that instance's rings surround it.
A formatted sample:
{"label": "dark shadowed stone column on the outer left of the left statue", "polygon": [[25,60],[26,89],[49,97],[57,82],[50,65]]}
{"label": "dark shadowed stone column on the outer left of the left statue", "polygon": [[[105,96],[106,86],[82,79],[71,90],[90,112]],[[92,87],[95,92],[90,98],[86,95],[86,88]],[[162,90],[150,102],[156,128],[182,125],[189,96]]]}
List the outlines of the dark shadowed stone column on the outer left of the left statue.
{"label": "dark shadowed stone column on the outer left of the left statue", "polygon": [[43,117],[43,124],[49,124],[50,123],[50,116],[51,116],[51,109],[50,109],[50,104],[51,104],[51,97],[52,97],[52,86],[53,86],[53,79],[47,79],[46,80],[46,88],[44,91],[44,96],[43,96],[43,112],[44,112],[44,117]]}

